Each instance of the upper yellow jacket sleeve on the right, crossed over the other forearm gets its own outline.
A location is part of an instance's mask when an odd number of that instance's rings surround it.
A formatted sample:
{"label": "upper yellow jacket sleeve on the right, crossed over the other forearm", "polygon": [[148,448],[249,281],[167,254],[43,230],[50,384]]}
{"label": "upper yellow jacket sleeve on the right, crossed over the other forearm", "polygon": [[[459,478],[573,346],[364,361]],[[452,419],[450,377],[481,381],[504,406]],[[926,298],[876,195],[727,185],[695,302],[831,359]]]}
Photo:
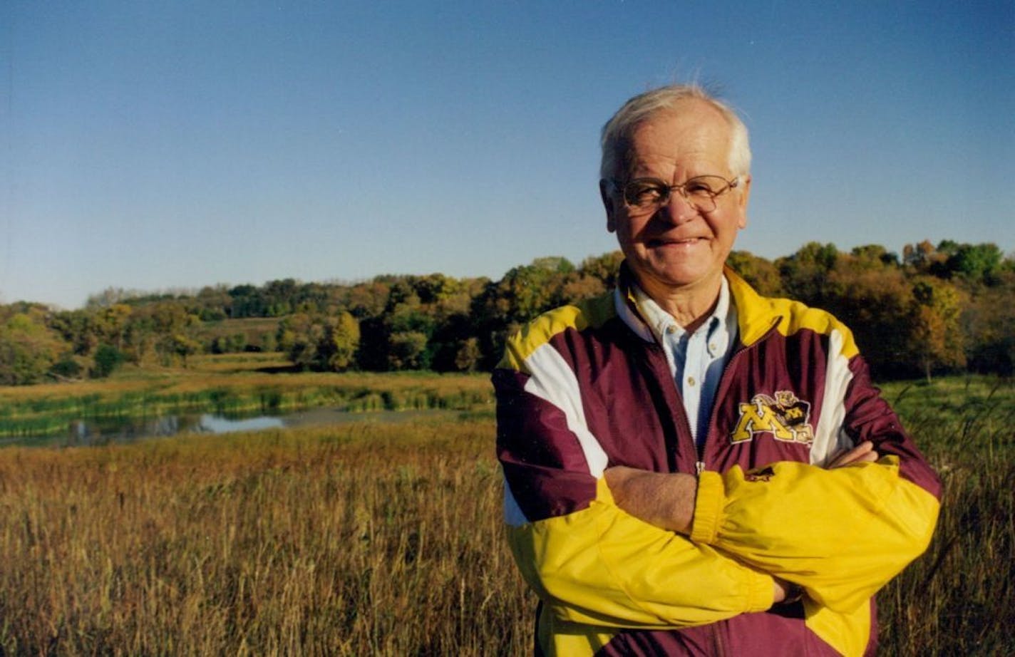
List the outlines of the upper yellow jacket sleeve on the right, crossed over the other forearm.
{"label": "upper yellow jacket sleeve on the right, crossed over the other forearm", "polygon": [[832,470],[737,466],[701,473],[691,539],[848,613],[927,549],[937,515],[937,498],[900,477],[894,456]]}

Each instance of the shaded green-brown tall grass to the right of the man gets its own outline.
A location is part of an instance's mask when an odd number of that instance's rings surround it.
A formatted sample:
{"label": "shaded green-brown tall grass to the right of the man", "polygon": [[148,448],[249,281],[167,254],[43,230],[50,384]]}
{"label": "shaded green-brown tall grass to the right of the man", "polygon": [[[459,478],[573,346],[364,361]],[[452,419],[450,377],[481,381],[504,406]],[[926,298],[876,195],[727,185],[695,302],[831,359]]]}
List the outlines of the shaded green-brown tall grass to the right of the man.
{"label": "shaded green-brown tall grass to the right of the man", "polygon": [[1015,386],[883,386],[943,484],[930,549],[879,594],[884,655],[1015,653]]}

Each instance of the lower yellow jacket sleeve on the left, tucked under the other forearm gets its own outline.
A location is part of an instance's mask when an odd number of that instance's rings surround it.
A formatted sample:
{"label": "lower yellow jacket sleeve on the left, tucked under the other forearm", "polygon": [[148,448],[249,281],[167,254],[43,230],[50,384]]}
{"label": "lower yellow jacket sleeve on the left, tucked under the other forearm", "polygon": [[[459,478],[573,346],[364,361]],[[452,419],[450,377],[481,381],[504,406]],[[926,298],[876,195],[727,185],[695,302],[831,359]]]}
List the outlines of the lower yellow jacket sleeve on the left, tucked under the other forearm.
{"label": "lower yellow jacket sleeve on the left, tucked under the other forearm", "polygon": [[602,478],[588,508],[507,532],[523,577],[559,620],[672,629],[772,604],[769,575],[624,513]]}

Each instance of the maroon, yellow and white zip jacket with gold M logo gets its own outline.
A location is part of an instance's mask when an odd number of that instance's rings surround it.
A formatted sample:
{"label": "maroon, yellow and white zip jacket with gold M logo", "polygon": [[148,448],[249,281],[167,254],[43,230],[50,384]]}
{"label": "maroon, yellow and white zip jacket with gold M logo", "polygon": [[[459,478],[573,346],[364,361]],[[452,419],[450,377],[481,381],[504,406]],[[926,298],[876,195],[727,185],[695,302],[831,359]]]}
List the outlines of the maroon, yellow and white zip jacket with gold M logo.
{"label": "maroon, yellow and white zip jacket with gold M logo", "polygon": [[[546,655],[861,655],[874,593],[923,552],[939,482],[831,315],[727,270],[739,342],[695,448],[625,289],[547,313],[493,374],[512,551]],[[876,463],[824,469],[873,441]],[[613,502],[613,465],[698,474],[692,533]],[[772,606],[772,577],[801,586]]]}

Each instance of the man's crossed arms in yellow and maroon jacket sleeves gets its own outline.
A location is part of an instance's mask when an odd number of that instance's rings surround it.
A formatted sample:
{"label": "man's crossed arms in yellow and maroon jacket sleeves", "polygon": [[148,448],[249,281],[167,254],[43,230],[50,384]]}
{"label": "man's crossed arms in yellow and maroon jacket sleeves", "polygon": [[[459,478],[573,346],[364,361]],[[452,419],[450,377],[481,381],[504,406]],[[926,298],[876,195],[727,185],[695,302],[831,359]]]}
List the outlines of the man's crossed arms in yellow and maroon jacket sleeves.
{"label": "man's crossed arms in yellow and maroon jacket sleeves", "polygon": [[857,613],[933,532],[936,490],[912,471],[933,473],[907,439],[871,429],[883,401],[848,413],[858,446],[828,468],[785,461],[762,478],[739,467],[695,477],[606,467],[564,406],[527,392],[517,373],[494,380],[509,542],[561,621],[703,625],[768,609],[789,584],[805,606]]}

